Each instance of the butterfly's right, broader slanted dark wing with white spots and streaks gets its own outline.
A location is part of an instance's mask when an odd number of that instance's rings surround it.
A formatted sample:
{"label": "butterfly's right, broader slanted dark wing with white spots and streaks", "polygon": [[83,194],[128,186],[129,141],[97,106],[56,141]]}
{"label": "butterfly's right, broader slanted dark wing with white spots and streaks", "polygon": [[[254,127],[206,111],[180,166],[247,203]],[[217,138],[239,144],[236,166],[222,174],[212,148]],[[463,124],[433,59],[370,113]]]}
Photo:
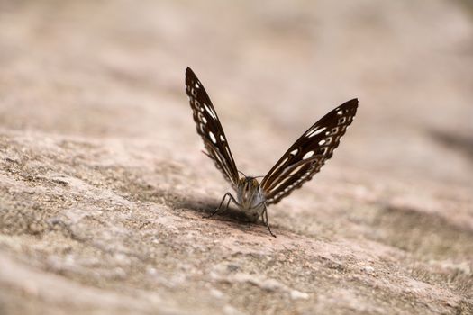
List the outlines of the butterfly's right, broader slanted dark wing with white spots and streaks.
{"label": "butterfly's right, broader slanted dark wing with white spots and streaks", "polygon": [[267,204],[279,202],[320,171],[338,147],[357,108],[358,99],[343,103],[296,140],[261,181]]}

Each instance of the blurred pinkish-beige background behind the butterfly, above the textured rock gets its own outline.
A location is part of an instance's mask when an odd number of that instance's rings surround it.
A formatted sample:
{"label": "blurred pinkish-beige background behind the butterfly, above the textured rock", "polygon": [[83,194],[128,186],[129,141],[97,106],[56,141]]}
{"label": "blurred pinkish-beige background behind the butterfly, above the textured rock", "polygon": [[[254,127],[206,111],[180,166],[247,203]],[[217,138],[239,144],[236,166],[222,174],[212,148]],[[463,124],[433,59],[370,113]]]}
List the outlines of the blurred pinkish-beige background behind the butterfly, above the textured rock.
{"label": "blurred pinkish-beige background behind the butterfly, above the textured rock", "polygon": [[189,66],[248,173],[359,97],[342,165],[470,184],[472,14],[468,1],[3,0],[0,122],[194,155]]}

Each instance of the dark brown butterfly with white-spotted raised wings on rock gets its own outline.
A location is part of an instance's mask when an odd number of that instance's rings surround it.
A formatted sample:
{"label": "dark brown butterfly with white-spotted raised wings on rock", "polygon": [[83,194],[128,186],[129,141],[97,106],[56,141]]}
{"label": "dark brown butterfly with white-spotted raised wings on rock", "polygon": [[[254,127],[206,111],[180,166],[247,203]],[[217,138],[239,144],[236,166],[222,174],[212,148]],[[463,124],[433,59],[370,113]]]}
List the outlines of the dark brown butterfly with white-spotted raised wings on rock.
{"label": "dark brown butterfly with white-spotted raised wings on rock", "polygon": [[267,206],[280,202],[320,171],[325,161],[332,157],[333,150],[338,147],[358,108],[358,99],[355,98],[315,122],[287,149],[259,183],[257,177],[244,175],[235,165],[214,105],[190,67],[186,67],[186,94],[197,133],[204,141],[205,155],[214,160],[215,166],[236,192],[236,198],[232,193],[225,193],[218,208],[207,217],[226,211],[230,202],[233,202],[250,220],[256,221],[261,217],[273,237],[276,236],[269,227]]}

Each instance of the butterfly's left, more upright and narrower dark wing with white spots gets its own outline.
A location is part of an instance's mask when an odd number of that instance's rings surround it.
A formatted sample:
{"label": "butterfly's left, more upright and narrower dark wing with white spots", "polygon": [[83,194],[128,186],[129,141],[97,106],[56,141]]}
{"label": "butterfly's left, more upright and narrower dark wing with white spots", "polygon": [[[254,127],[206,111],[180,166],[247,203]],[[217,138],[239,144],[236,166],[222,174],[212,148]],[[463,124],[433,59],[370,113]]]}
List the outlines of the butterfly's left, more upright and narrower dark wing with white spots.
{"label": "butterfly's left, more upright and narrower dark wing with white spots", "polygon": [[204,140],[205,155],[212,158],[225,179],[236,186],[239,177],[238,170],[217,112],[205,92],[204,85],[200,83],[190,67],[186,68],[186,93],[197,124],[197,133]]}

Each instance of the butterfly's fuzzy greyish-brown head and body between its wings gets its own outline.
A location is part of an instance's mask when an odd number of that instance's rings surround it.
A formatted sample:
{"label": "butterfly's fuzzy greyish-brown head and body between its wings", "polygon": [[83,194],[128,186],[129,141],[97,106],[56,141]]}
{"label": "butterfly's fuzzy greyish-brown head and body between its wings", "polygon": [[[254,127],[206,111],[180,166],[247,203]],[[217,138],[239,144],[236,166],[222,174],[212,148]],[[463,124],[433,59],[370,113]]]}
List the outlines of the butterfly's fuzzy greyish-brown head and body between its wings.
{"label": "butterfly's fuzzy greyish-brown head and body between its wings", "polygon": [[265,197],[256,178],[250,176],[240,178],[236,191],[242,210],[256,213],[262,211]]}

